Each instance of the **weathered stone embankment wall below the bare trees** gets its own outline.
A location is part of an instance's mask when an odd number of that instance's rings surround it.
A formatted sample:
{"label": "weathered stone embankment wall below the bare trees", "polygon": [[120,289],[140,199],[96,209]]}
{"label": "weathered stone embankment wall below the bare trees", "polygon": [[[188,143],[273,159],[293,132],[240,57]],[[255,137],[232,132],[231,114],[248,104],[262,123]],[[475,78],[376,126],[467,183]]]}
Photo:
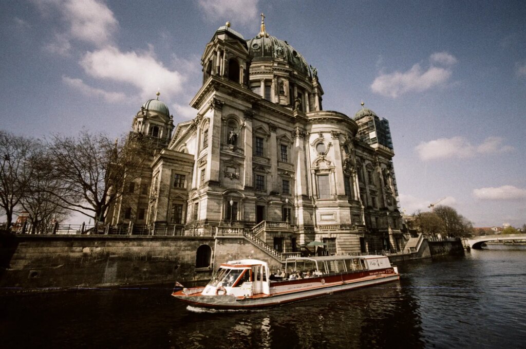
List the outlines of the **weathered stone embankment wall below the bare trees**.
{"label": "weathered stone embankment wall below the bare trees", "polygon": [[213,237],[0,235],[0,287],[6,290],[104,287],[209,280],[196,270]]}

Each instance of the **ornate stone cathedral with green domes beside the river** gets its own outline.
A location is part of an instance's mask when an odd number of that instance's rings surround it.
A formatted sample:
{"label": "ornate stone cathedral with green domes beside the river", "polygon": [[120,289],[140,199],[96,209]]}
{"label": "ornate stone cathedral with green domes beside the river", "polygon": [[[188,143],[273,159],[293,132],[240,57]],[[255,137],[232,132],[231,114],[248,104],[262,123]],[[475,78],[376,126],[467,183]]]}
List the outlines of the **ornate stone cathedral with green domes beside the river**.
{"label": "ornate stone cathedral with green domes beside the river", "polygon": [[174,127],[147,101],[130,136],[151,162],[108,215],[151,234],[250,234],[278,252],[313,241],[327,254],[400,250],[389,123],[322,107],[316,68],[287,41],[217,29],[201,64],[196,117]]}

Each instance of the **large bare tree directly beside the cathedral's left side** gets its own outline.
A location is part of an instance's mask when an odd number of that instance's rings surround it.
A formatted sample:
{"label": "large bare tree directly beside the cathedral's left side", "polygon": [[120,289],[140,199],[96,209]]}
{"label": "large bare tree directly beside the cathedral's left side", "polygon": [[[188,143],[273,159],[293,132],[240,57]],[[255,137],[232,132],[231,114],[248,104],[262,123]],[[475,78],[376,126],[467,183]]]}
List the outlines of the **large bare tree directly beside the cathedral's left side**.
{"label": "large bare tree directly beside the cathedral's left side", "polygon": [[49,153],[54,175],[65,190],[50,192],[60,206],[95,222],[105,220],[108,208],[139,176],[146,159],[140,139],[112,142],[105,134],[86,130],[77,137],[55,135]]}

